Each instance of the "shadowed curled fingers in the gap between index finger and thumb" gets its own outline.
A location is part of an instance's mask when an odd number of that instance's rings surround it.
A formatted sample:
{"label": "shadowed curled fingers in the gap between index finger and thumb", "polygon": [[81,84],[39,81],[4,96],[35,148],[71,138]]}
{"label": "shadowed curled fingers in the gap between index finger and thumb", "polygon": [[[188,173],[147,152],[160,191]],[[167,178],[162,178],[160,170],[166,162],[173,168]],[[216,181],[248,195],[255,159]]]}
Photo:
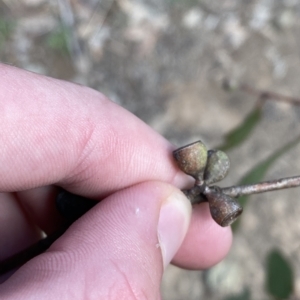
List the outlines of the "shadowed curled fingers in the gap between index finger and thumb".
{"label": "shadowed curled fingers in the gap between index finger and thumb", "polygon": [[[0,273],[3,261],[62,226],[55,194],[56,188],[49,186],[0,194]],[[4,279],[6,276],[0,277],[0,281]]]}

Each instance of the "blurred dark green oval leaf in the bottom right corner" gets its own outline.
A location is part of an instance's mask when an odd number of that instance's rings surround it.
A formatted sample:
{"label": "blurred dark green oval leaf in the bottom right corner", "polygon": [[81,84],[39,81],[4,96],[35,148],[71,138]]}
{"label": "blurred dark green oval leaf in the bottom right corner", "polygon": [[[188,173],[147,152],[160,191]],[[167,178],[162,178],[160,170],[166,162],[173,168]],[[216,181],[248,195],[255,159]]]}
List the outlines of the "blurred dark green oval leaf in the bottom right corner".
{"label": "blurred dark green oval leaf in the bottom right corner", "polygon": [[276,299],[287,299],[293,292],[293,270],[279,250],[273,249],[267,256],[267,291]]}

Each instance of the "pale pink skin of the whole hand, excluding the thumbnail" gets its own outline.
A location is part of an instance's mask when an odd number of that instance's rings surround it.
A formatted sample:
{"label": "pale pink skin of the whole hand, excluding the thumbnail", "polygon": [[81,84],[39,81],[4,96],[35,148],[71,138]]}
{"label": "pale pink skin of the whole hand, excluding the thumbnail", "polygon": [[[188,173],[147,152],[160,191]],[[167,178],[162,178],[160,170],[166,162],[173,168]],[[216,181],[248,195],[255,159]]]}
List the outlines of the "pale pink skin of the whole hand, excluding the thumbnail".
{"label": "pale pink skin of the whole hand, excluding the thumbnail", "polygon": [[[1,299],[160,299],[159,212],[189,181],[174,147],[92,89],[6,65],[0,78],[0,259],[39,240],[38,228],[60,226],[56,186],[102,200],[46,253],[2,277]],[[231,230],[206,203],[189,218],[172,263],[208,268],[227,254]]]}

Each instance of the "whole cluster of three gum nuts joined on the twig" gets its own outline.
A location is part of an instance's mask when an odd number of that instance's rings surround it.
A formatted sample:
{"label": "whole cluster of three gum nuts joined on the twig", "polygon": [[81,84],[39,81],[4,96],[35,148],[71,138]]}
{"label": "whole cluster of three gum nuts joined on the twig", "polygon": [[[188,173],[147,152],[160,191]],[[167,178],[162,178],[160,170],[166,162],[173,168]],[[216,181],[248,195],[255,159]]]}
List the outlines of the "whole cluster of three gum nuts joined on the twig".
{"label": "whole cluster of three gum nuts joined on the twig", "polygon": [[195,179],[195,185],[183,190],[192,204],[208,202],[212,218],[222,227],[231,225],[242,213],[240,204],[212,184],[225,178],[230,162],[221,150],[207,150],[197,141],[173,151],[181,171]]}

